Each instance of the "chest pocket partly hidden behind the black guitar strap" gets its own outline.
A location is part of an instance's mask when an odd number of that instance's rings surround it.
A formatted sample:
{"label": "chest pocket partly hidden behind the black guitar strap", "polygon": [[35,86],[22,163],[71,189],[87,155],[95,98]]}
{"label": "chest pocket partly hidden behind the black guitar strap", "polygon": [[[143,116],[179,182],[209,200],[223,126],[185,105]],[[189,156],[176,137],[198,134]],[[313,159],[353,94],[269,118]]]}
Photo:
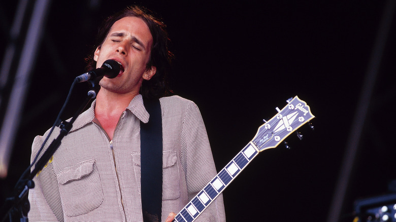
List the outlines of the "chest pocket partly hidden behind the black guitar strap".
{"label": "chest pocket partly hidden behind the black guitar strap", "polygon": [[[140,152],[133,153],[136,181],[140,182]],[[180,163],[175,152],[164,151],[162,155],[162,200],[180,197]]]}

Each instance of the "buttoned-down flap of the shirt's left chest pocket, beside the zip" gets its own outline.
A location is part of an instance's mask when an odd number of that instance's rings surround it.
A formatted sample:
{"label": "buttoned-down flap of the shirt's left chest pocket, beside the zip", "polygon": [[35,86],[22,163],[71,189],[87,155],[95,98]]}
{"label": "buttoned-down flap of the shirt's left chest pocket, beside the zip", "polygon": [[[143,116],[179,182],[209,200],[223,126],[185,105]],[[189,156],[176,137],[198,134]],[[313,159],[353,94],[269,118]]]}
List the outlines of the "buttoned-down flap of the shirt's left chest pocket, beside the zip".
{"label": "buttoned-down flap of the shirt's left chest pocket, beside the zip", "polygon": [[64,185],[74,180],[79,180],[89,175],[93,170],[95,160],[83,162],[80,166],[72,167],[57,174],[58,181]]}

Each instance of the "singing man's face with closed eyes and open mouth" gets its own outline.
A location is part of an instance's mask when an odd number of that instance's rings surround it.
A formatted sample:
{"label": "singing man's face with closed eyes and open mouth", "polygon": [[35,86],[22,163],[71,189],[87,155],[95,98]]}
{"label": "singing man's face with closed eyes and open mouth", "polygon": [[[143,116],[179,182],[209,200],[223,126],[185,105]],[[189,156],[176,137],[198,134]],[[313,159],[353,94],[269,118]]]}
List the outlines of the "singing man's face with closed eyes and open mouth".
{"label": "singing man's face with closed eyes and open mouth", "polygon": [[156,68],[146,69],[153,43],[146,23],[137,17],[124,17],[111,27],[102,46],[98,47],[93,59],[96,68],[113,59],[121,64],[121,71],[114,79],[104,77],[102,88],[120,94],[139,93],[143,79],[150,80]]}

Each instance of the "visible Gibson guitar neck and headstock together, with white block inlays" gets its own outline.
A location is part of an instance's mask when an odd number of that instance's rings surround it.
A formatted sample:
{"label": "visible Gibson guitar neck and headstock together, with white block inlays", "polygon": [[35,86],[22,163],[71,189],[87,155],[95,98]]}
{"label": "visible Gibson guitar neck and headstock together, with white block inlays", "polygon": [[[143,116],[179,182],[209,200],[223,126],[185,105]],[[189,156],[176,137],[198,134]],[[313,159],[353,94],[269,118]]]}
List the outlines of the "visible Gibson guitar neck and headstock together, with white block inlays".
{"label": "visible Gibson guitar neck and headstock together, with white block inlays", "polygon": [[275,148],[292,132],[314,118],[306,102],[298,96],[271,120],[261,125],[254,138],[175,216],[174,222],[192,222],[237,177],[259,152]]}

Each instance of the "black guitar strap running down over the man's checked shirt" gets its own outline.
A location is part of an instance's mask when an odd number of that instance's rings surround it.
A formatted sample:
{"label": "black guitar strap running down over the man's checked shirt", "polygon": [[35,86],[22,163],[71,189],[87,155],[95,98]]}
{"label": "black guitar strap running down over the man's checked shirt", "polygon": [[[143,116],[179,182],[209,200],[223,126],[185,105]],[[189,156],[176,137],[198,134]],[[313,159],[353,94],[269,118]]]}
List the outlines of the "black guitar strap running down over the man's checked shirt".
{"label": "black guitar strap running down over the man's checked shirt", "polygon": [[144,222],[160,222],[162,206],[162,117],[158,99],[143,99],[150,114],[140,124],[142,212]]}

